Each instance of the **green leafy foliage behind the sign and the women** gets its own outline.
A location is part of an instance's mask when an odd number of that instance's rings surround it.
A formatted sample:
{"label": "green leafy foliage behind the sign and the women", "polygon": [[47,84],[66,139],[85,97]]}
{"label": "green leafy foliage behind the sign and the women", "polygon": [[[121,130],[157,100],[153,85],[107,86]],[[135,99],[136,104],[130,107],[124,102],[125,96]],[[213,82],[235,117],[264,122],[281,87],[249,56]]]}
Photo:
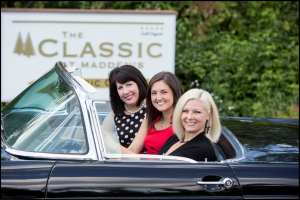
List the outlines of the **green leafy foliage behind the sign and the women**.
{"label": "green leafy foliage behind the sign and the women", "polygon": [[299,119],[298,1],[1,1],[1,7],[175,10],[175,71],[185,91],[212,93],[222,116]]}

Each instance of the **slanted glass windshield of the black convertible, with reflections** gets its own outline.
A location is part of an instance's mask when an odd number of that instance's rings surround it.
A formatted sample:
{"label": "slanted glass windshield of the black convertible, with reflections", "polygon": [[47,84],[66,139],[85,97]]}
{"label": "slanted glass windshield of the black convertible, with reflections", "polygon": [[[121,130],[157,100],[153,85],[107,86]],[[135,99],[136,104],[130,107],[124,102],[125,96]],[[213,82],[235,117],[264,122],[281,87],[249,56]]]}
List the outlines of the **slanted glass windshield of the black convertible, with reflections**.
{"label": "slanted glass windshield of the black convertible, with reflections", "polygon": [[4,137],[15,149],[76,154],[87,151],[78,100],[55,69],[19,94],[2,114]]}

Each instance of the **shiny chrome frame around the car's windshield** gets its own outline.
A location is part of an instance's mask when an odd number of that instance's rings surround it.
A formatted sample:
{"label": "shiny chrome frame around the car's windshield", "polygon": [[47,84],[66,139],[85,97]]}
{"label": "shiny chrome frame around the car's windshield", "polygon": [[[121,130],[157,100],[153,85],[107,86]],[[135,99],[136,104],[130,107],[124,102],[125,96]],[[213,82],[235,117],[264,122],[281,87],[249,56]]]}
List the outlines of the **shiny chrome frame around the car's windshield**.
{"label": "shiny chrome frame around the car's windshield", "polygon": [[[86,90],[72,77],[72,75],[65,69],[62,62],[57,62],[54,69],[58,76],[70,87],[76,95],[76,98],[81,109],[82,125],[85,131],[87,152],[85,154],[63,154],[63,153],[46,153],[23,151],[12,148],[5,140],[2,133],[4,128],[1,125],[1,147],[13,156],[28,157],[34,159],[50,159],[50,160],[101,160],[100,152],[97,152],[96,142],[94,141],[94,123],[91,119],[90,106],[86,102],[90,101],[90,97]],[[52,69],[51,69],[52,70]],[[47,72],[48,73],[48,72]],[[2,120],[2,119],[1,119]]]}

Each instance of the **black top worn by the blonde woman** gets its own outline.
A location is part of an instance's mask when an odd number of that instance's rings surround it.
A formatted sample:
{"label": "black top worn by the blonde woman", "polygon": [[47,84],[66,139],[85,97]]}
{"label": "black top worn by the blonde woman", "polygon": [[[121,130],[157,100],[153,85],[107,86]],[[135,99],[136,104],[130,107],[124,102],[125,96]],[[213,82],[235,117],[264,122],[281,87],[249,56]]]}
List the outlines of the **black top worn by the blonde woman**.
{"label": "black top worn by the blonde woman", "polygon": [[[157,155],[166,153],[179,139],[176,134],[169,137],[166,143],[161,147]],[[181,156],[191,158],[196,161],[216,161],[215,150],[210,143],[210,140],[205,136],[204,131],[194,137],[192,140],[186,142],[176,150],[171,152],[171,156]]]}

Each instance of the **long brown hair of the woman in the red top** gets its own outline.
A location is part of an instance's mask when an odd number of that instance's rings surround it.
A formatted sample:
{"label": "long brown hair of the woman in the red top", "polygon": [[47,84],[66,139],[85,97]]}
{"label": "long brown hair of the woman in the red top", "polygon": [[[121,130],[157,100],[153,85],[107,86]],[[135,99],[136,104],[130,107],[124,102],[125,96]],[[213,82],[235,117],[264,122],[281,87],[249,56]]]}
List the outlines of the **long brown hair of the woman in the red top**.
{"label": "long brown hair of the woman in the red top", "polygon": [[178,99],[181,97],[181,95],[183,94],[183,89],[180,85],[180,82],[178,80],[178,78],[172,74],[171,72],[159,72],[158,74],[155,74],[150,82],[149,82],[149,86],[148,86],[148,90],[147,90],[147,96],[146,96],[146,100],[147,100],[147,119],[148,119],[148,130],[150,130],[152,123],[154,122],[154,120],[161,115],[161,112],[158,111],[152,104],[151,101],[151,88],[152,85],[157,82],[157,81],[163,81],[164,83],[166,83],[171,89],[172,89],[172,93],[173,93],[173,107],[175,108],[176,103],[178,101]]}

